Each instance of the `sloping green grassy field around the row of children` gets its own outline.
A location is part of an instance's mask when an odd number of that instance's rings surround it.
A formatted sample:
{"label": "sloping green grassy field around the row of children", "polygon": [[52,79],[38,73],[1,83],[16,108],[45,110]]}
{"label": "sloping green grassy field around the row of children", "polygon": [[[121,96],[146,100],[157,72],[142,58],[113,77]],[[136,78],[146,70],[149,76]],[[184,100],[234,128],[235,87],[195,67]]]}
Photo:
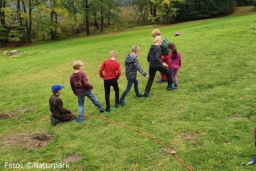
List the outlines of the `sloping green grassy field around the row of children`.
{"label": "sloping green grassy field around the row of children", "polygon": [[[255,14],[228,16],[7,49],[20,54],[0,56],[0,170],[29,170],[29,162],[60,164],[55,170],[187,170],[139,131],[175,150],[191,170],[255,170],[242,165],[256,155],[255,27]],[[148,71],[150,33],[156,28],[181,52],[179,90],[167,91],[166,84],[156,83],[156,76],[153,96],[136,98],[131,90],[128,105],[109,114],[99,113],[86,99],[84,123],[52,127],[50,120],[41,121],[50,117],[48,99],[54,83],[66,86],[60,98],[77,114],[77,98],[69,86],[74,60],[84,62],[93,93],[105,107],[98,69],[109,52],[117,50],[122,94],[127,83],[124,58],[132,45],[139,45],[139,62]],[[175,37],[176,32],[182,35]],[[139,73],[137,79],[142,93],[147,79]],[[62,166],[66,162],[69,167]]]}

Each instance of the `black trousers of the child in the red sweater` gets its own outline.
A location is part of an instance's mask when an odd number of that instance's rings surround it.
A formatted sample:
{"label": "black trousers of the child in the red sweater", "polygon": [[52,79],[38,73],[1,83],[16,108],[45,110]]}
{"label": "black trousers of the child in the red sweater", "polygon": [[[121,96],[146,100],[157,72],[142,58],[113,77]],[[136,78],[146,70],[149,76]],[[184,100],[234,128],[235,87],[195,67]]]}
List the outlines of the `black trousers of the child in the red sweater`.
{"label": "black trousers of the child in the red sweater", "polygon": [[104,80],[105,100],[106,100],[107,108],[110,108],[109,96],[110,96],[110,87],[111,86],[115,90],[115,103],[119,102],[119,88],[118,88],[117,79]]}

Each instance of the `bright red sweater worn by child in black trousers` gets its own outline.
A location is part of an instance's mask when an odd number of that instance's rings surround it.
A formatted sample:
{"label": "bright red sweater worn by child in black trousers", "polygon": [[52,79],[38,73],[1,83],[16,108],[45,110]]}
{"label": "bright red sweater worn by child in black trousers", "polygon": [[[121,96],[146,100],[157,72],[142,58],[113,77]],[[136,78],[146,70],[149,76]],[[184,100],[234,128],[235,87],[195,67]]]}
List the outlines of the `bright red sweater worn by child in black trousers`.
{"label": "bright red sweater worn by child in black trousers", "polygon": [[120,63],[116,60],[105,60],[100,67],[99,73],[100,78],[103,78],[104,80],[119,79],[121,75]]}

